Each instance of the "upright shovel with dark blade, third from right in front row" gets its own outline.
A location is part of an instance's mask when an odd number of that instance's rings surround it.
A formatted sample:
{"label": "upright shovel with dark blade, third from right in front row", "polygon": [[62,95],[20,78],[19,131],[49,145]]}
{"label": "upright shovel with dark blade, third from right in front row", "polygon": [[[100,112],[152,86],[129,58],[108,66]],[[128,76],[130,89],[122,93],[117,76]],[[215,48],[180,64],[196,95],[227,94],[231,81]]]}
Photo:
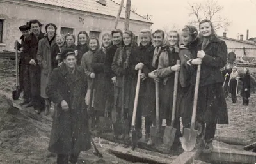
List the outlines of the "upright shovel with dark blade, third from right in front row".
{"label": "upright shovel with dark blade, third from right in front row", "polygon": [[159,120],[159,82],[155,82],[156,87],[156,126],[150,128],[152,141],[156,144],[160,143],[160,120]]}

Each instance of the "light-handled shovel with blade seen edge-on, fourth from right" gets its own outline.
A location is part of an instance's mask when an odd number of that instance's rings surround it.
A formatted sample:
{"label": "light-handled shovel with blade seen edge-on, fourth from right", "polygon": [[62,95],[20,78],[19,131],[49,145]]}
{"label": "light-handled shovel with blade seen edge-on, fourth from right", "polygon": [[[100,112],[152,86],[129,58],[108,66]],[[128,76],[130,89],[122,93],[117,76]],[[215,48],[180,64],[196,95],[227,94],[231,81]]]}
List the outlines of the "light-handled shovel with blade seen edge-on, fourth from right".
{"label": "light-handled shovel with blade seen edge-on, fourth from right", "polygon": [[132,112],[132,149],[136,148],[137,141],[138,141],[137,133],[136,133],[136,129],[135,129],[135,121],[136,121],[138,98],[139,98],[139,92],[140,92],[140,74],[141,74],[141,70],[139,70],[139,73],[138,73],[134,107],[133,107],[133,112]]}

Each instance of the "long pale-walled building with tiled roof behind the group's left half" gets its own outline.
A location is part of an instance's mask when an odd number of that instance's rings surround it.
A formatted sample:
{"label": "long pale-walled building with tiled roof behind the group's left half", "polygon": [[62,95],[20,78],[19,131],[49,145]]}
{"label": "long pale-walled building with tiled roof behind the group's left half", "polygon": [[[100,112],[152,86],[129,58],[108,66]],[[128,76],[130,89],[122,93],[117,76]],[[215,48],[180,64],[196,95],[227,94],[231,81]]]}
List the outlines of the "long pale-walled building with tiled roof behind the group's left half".
{"label": "long pale-walled building with tiled roof behind the group's left half", "polygon": [[[120,4],[112,0],[1,0],[0,1],[0,51],[13,51],[15,40],[21,33],[19,26],[38,19],[44,26],[54,23],[57,33],[87,31],[90,36],[101,37],[104,31],[115,27]],[[122,8],[119,29],[124,29],[125,8]],[[138,36],[141,29],[150,28],[152,22],[131,11],[129,29]]]}

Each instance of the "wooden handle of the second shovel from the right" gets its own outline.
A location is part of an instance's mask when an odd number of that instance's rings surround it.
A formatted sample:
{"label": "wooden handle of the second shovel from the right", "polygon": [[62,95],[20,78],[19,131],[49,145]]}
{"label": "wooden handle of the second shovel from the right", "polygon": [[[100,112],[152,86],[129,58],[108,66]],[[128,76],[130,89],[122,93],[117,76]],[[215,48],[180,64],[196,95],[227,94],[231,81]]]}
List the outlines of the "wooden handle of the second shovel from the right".
{"label": "wooden handle of the second shovel from the right", "polygon": [[[176,64],[180,64],[180,60],[177,60]],[[172,121],[171,121],[171,126],[172,127],[174,126],[174,121],[175,121],[176,101],[177,101],[177,93],[178,93],[178,82],[179,82],[179,71],[175,71],[173,103],[172,103]]]}

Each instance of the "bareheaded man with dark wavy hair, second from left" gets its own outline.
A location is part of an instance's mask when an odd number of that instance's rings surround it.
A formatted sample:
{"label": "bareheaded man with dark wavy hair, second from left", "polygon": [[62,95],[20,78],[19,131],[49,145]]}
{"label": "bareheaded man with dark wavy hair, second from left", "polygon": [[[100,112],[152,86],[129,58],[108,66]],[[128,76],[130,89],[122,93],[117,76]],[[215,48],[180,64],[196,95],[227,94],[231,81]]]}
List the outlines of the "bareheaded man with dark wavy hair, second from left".
{"label": "bareheaded man with dark wavy hair, second from left", "polygon": [[32,30],[31,39],[29,40],[29,56],[26,57],[26,62],[29,63],[29,76],[31,83],[31,94],[33,107],[37,113],[45,109],[44,98],[40,96],[40,79],[41,68],[38,65],[36,54],[38,50],[38,42],[44,38],[45,34],[41,32],[42,24],[38,20],[31,20],[29,26]]}

